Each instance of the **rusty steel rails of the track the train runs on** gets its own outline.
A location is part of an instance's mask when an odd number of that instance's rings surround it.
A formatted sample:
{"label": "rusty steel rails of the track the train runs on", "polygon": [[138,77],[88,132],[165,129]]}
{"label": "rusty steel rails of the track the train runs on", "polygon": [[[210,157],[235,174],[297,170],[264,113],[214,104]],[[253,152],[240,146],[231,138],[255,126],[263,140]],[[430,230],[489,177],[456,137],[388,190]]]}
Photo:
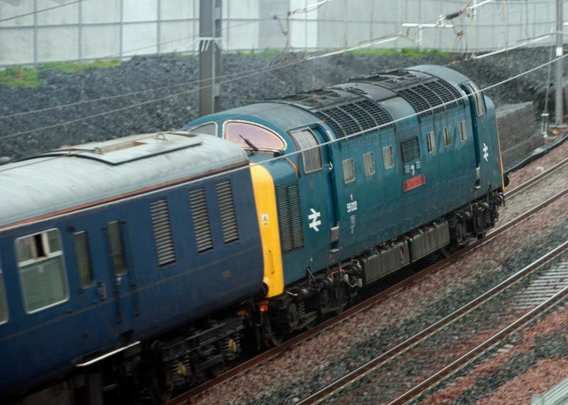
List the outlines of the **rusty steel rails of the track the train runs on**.
{"label": "rusty steel rails of the track the train runs on", "polygon": [[[551,174],[554,174],[555,172],[558,172],[559,170],[562,170],[564,168],[568,168],[568,159],[562,160],[562,162],[558,162],[556,165],[550,167],[548,170],[545,170],[544,172],[538,174],[535,177],[532,177],[532,179],[528,180],[527,182],[524,182],[523,184],[520,184],[518,187],[515,187],[515,189],[511,189],[509,192],[506,192],[506,194],[505,194],[506,199],[520,194],[520,192],[522,192],[523,190],[529,189],[533,185],[535,185],[535,184],[539,183],[540,181],[542,181],[543,179],[549,177]],[[245,372],[249,372],[249,371],[253,370],[255,367],[258,367],[258,365],[261,365],[264,362],[280,355],[280,353],[284,353],[286,350],[293,348],[295,345],[298,345],[302,341],[307,340],[309,338],[312,338],[315,335],[322,333],[329,328],[332,328],[334,325],[336,325],[337,323],[340,323],[342,320],[349,318],[350,316],[353,316],[354,314],[356,314],[360,311],[364,311],[364,310],[370,308],[371,306],[374,306],[376,304],[380,304],[382,301],[387,299],[388,296],[391,296],[393,293],[398,292],[398,291],[404,289],[405,287],[407,287],[408,285],[417,282],[417,280],[424,277],[426,274],[436,272],[437,270],[442,269],[442,267],[446,267],[448,265],[451,265],[454,262],[457,262],[458,260],[461,259],[461,257],[464,257],[464,255],[471,252],[471,250],[474,250],[474,249],[478,248],[480,245],[487,243],[489,240],[496,238],[497,235],[503,233],[504,231],[507,231],[508,229],[512,228],[513,226],[517,225],[518,223],[524,221],[526,218],[532,216],[537,211],[544,209],[546,206],[552,204],[554,201],[557,201],[558,199],[562,198],[563,196],[566,196],[567,194],[568,194],[568,189],[563,189],[561,192],[558,192],[557,194],[551,196],[549,199],[542,201],[540,204],[538,204],[537,206],[534,206],[532,209],[526,211],[525,213],[521,214],[520,216],[517,216],[516,218],[513,218],[511,221],[508,221],[503,226],[500,226],[496,229],[493,229],[493,231],[491,231],[490,233],[488,233],[486,235],[486,238],[484,238],[482,240],[478,240],[475,243],[472,243],[471,245],[466,246],[465,248],[459,250],[457,253],[454,253],[454,255],[452,255],[451,257],[447,257],[444,260],[436,262],[434,265],[431,265],[429,267],[426,267],[423,270],[420,270],[420,272],[413,274],[412,276],[404,279],[402,282],[399,282],[398,284],[395,284],[392,287],[389,287],[388,289],[383,290],[382,292],[376,294],[375,296],[372,296],[371,298],[368,298],[365,301],[362,301],[361,303],[356,304],[355,306],[352,306],[351,308],[347,309],[346,311],[344,311],[339,316],[336,316],[332,319],[324,321],[323,323],[320,323],[319,325],[315,326],[314,328],[311,328],[309,331],[306,331],[304,333],[301,333],[300,335],[296,335],[295,337],[290,338],[290,340],[285,341],[284,343],[282,343],[278,347],[272,348],[270,350],[266,350],[265,352],[257,355],[256,357],[253,357],[250,360],[247,360],[247,361],[245,361],[245,362],[243,362],[239,365],[236,365],[236,367],[232,368],[231,370],[228,370],[227,372],[224,372],[222,375],[219,375],[219,377],[216,377],[214,379],[209,379],[207,382],[204,382],[203,384],[200,384],[199,386],[192,388],[189,391],[187,391],[183,394],[180,394],[173,399],[170,399],[165,404],[166,405],[178,405],[178,404],[194,403],[194,401],[197,401],[199,399],[200,394],[207,392],[209,389],[212,389],[212,387],[215,387],[218,384],[221,384],[222,382],[225,382],[225,381],[227,381],[227,380],[229,380],[229,379],[231,379],[231,378],[233,378],[237,375],[241,375],[241,374],[244,374]],[[432,327],[433,326],[434,325],[432,325]],[[389,352],[390,352],[390,350],[389,350]],[[387,353],[389,353],[389,352],[387,352]],[[386,353],[384,353],[384,354],[386,355]],[[329,396],[329,395],[327,395],[327,396]],[[327,397],[327,396],[325,396],[325,397]],[[301,401],[301,404],[308,404],[308,403],[312,403],[313,401],[320,401],[321,400],[321,399],[315,399],[315,397],[314,397],[312,400],[308,401],[308,399],[311,399],[311,398],[312,398],[312,396]]]}

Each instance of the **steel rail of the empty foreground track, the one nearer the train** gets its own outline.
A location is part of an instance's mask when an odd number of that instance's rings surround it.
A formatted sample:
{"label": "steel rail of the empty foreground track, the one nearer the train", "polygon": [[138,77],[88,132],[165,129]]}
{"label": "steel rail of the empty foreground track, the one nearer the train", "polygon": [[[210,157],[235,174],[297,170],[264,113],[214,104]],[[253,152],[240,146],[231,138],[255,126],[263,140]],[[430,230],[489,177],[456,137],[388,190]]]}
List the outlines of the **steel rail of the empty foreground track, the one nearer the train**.
{"label": "steel rail of the empty foreground track, the one nearer the train", "polygon": [[[567,191],[568,191],[568,189],[567,189]],[[324,401],[325,399],[329,398],[330,396],[337,394],[337,392],[348,387],[349,385],[353,384],[354,382],[359,381],[359,379],[361,379],[361,378],[365,377],[366,375],[370,374],[371,372],[377,370],[382,365],[384,365],[387,362],[390,362],[391,360],[395,359],[395,357],[398,357],[399,355],[405,353],[410,348],[413,348],[418,343],[420,343],[423,340],[430,337],[430,335],[432,335],[433,333],[436,333],[437,331],[442,330],[443,328],[448,326],[450,323],[457,321],[457,319],[461,318],[465,314],[469,314],[469,312],[476,309],[481,304],[484,304],[486,301],[488,301],[488,299],[491,299],[493,296],[496,296],[496,294],[503,292],[503,290],[505,290],[505,289],[508,289],[508,287],[510,287],[513,284],[515,284],[516,282],[520,281],[520,279],[523,279],[528,274],[534,272],[535,270],[540,268],[542,265],[544,265],[546,262],[549,262],[553,258],[557,257],[559,254],[564,253],[567,249],[568,249],[568,240],[566,242],[562,243],[562,245],[557,246],[557,248],[551,250],[546,255],[544,255],[544,256],[540,257],[539,259],[535,260],[534,262],[530,263],[530,265],[523,267],[523,269],[519,270],[518,272],[511,275],[507,279],[503,280],[503,282],[501,282],[498,285],[496,285],[495,287],[489,289],[484,294],[481,294],[480,296],[476,297],[476,299],[473,299],[468,304],[461,306],[461,308],[452,312],[452,314],[449,314],[449,315],[445,316],[444,318],[440,319],[439,321],[432,323],[432,325],[423,329],[419,333],[413,335],[411,338],[408,338],[403,343],[400,343],[400,344],[396,345],[395,347],[391,348],[390,350],[387,350],[385,353],[382,353],[378,357],[375,357],[373,360],[366,362],[366,364],[362,365],[361,367],[358,367],[356,370],[353,370],[349,374],[344,375],[343,377],[332,382],[332,384],[329,384],[327,387],[324,387],[324,388],[320,389],[320,391],[315,392],[314,394],[308,396],[307,398],[303,399],[302,401],[297,402],[297,405],[317,404],[320,401]],[[443,370],[445,370],[445,369],[443,369]],[[436,375],[438,375],[438,373],[436,373]],[[436,375],[434,375],[432,377],[435,377]],[[432,378],[432,377],[430,377],[430,378]],[[419,389],[418,387],[424,387],[424,384],[427,381],[429,381],[430,378],[425,379],[425,381],[422,382],[421,384],[419,384],[418,386],[416,386],[415,389]],[[431,384],[435,383],[433,379],[430,380],[430,381],[432,382]],[[439,381],[439,379],[437,379],[436,382],[437,381]],[[430,387],[430,385],[428,387]],[[425,387],[424,389],[427,389],[428,387]],[[422,391],[424,389],[422,389]],[[408,395],[410,395],[411,392],[414,392],[413,390],[414,389],[403,394],[398,399],[395,399],[395,401],[391,402],[391,404],[400,404],[401,403],[400,401],[408,401]],[[422,392],[422,391],[420,391],[420,392]],[[419,394],[420,394],[420,392],[419,392]],[[412,399],[416,395],[417,394],[413,394],[412,396],[410,396],[410,399]],[[400,399],[400,401],[399,401],[399,399]]]}

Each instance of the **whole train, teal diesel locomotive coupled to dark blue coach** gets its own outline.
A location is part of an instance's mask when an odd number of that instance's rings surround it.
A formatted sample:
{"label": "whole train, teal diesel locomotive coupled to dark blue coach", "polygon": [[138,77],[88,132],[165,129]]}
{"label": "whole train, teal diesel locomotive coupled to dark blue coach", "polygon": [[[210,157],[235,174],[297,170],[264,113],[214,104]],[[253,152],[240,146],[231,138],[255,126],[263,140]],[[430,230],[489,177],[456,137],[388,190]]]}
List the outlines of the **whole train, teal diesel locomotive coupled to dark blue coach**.
{"label": "whole train, teal diesel locomotive coupled to dark blue coach", "polygon": [[163,401],[482,237],[503,202],[495,108],[445,67],[185,129],[0,167],[0,398]]}

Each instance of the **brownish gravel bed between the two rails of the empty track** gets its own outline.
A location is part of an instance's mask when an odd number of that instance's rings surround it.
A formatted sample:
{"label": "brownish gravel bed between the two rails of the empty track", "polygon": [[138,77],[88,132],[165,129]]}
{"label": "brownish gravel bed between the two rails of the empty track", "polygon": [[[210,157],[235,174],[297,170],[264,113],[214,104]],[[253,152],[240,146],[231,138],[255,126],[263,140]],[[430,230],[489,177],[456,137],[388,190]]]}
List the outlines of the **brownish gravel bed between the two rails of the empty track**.
{"label": "brownish gravel bed between the two rails of the empty track", "polygon": [[[542,253],[544,254],[544,252]],[[434,372],[444,369],[454,360],[465,355],[477,345],[501,331],[513,321],[528,313],[537,304],[523,306],[523,296],[535,280],[547,277],[555,271],[559,262],[566,263],[568,253],[547,262],[519,282],[510,285],[458,318],[442,330],[433,333],[395,360],[386,362],[358,384],[346,387],[328,403],[332,404],[390,404],[408,389],[430,377]],[[520,269],[518,269],[520,270]],[[548,276],[550,277],[550,276]],[[566,287],[567,280],[557,282],[557,287]],[[544,301],[547,296],[542,297]],[[471,399],[470,399],[471,400]],[[457,401],[457,403],[464,403]],[[474,403],[471,401],[470,403]]]}

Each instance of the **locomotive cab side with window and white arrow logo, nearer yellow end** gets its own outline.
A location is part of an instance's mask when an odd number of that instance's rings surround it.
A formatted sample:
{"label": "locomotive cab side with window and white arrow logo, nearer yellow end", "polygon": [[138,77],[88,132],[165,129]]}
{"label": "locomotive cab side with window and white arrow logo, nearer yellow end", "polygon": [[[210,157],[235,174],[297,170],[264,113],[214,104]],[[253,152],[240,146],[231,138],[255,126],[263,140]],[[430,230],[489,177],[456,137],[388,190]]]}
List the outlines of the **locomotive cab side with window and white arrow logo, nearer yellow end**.
{"label": "locomotive cab side with window and white arrow logo, nearer yellow end", "polygon": [[[317,128],[305,128],[290,133],[297,150],[302,150],[300,184],[307,221],[306,247],[310,250],[312,267],[322,268],[337,260],[334,251],[339,243],[339,227],[332,183],[332,163],[327,147],[318,147],[326,141]],[[311,246],[310,246],[311,245]]]}

